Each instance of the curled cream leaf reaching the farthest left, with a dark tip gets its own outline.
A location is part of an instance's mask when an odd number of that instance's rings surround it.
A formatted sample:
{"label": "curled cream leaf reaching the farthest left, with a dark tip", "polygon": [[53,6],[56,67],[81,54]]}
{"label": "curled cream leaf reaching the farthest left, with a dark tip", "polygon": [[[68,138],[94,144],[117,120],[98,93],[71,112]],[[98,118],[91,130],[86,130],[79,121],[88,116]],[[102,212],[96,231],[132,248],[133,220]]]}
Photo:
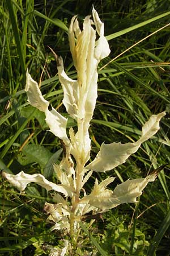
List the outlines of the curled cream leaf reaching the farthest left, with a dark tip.
{"label": "curled cream leaf reaching the farthest left, with a dark tip", "polygon": [[46,191],[54,190],[57,192],[63,193],[65,196],[68,196],[68,192],[62,185],[54,184],[45,179],[45,177],[41,174],[25,174],[23,171],[19,172],[19,174],[7,174],[7,172],[3,172],[3,176],[13,185],[18,188],[19,191],[23,191],[27,185],[31,182],[35,182],[41,187],[45,188]]}

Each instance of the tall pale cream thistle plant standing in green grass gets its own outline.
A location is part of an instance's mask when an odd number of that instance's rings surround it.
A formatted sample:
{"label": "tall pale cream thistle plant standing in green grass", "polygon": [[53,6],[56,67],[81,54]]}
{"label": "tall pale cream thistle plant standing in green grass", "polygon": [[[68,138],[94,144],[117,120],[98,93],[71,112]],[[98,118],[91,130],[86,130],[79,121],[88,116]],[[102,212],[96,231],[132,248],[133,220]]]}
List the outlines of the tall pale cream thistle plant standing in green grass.
{"label": "tall pale cream thistle plant standing in green grass", "polygon": [[[48,218],[55,222],[52,230],[66,229],[70,234],[78,232],[79,220],[84,214],[91,211],[104,212],[123,203],[135,203],[148,182],[155,180],[156,173],[141,179],[126,180],[112,191],[107,189],[107,185],[115,178],[108,177],[101,183],[96,179],[90,195],[86,195],[83,188],[93,171],[105,172],[125,163],[126,159],[138,150],[142,142],[156,134],[159,130],[159,121],[165,115],[165,112],[152,115],[143,126],[141,138],[137,142],[103,143],[96,158],[87,164],[91,150],[88,129],[97,98],[97,65],[110,53],[107,39],[104,37],[104,24],[95,9],[92,10],[92,16],[94,21],[90,16],[84,19],[82,31],[76,16],[71,19],[69,42],[77,80],[72,80],[66,75],[62,57],[56,55],[58,77],[63,89],[63,105],[70,117],[76,120],[76,133],[73,128],[70,128],[69,137],[67,137],[67,118],[54,108],[48,109],[49,102],[42,97],[37,82],[27,71],[25,91],[29,104],[45,113],[45,121],[50,131],[63,141],[65,148],[63,159],[60,164],[54,164],[54,172],[59,183],[48,181],[41,174],[29,175],[23,171],[17,175],[3,173],[6,179],[20,191],[23,191],[31,182],[41,185],[46,191],[56,191],[52,194],[56,204],[46,203],[45,210],[49,213]],[[97,40],[96,32],[99,35]],[[80,197],[80,191],[83,191],[83,197]],[[65,255],[66,247],[61,255]]]}

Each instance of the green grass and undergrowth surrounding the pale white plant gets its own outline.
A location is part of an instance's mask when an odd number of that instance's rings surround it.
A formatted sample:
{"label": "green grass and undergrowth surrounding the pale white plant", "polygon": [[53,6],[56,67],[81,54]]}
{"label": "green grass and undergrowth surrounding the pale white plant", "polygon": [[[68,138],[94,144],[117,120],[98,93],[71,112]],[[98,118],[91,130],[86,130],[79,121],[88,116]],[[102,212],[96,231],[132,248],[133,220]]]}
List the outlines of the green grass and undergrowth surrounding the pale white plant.
{"label": "green grass and undergrowth surrounding the pale white plant", "polygon": [[[123,180],[145,177],[159,166],[169,164],[170,43],[169,26],[164,27],[169,23],[169,1],[2,0],[2,170],[14,174],[21,170],[28,174],[39,172],[53,179],[52,163],[61,159],[61,151],[58,151],[61,144],[47,131],[44,114],[27,102],[25,71],[28,68],[33,79],[41,80],[42,94],[66,115],[61,105],[62,90],[56,76],[56,63],[48,46],[62,55],[67,74],[75,79],[67,28],[73,15],[79,14],[82,20],[91,14],[92,3],[104,20],[111,48],[111,55],[99,67],[99,96],[90,127],[92,158],[103,141],[137,140],[141,126],[151,114],[167,111],[154,138],[145,142],[122,166],[107,174],[94,174],[93,178],[117,176],[113,183],[116,186]],[[74,125],[69,119],[68,126]],[[169,166],[166,166],[154,184],[147,186],[137,205],[120,205],[104,213],[104,222],[101,219],[93,225],[83,222],[84,255],[90,251],[94,251],[94,255],[170,255],[169,178]],[[43,246],[60,245],[64,234],[50,232],[52,223],[43,212],[44,202],[50,202],[44,189],[31,184],[20,194],[2,176],[0,179],[0,254],[45,255]],[[90,179],[87,191],[94,179]],[[83,255],[78,253],[76,255]]]}

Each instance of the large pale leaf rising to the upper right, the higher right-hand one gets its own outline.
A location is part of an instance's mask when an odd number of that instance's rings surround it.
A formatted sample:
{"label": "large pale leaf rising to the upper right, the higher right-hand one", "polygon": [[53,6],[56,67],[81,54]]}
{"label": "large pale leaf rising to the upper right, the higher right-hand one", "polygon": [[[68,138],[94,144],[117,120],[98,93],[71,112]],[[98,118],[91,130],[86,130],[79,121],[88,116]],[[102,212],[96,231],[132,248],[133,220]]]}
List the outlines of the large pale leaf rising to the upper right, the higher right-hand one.
{"label": "large pale leaf rising to the upper right, the higher right-hand one", "polygon": [[152,115],[143,126],[142,136],[137,142],[126,144],[121,144],[120,142],[103,143],[96,158],[86,168],[88,170],[105,172],[125,163],[129,156],[138,150],[142,142],[147,141],[159,130],[159,121],[164,115],[165,112]]}

